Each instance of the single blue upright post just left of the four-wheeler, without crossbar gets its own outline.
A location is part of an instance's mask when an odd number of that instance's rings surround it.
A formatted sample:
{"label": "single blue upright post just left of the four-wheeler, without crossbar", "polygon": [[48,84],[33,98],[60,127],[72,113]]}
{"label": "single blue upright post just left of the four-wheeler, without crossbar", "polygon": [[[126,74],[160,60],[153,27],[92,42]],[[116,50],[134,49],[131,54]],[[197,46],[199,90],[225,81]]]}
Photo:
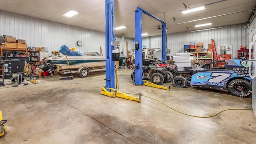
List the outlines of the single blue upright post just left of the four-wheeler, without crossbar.
{"label": "single blue upright post just left of the four-wheeler, without crossbar", "polygon": [[[142,9],[135,10],[135,85],[142,85]],[[136,46],[135,46],[136,47]]]}

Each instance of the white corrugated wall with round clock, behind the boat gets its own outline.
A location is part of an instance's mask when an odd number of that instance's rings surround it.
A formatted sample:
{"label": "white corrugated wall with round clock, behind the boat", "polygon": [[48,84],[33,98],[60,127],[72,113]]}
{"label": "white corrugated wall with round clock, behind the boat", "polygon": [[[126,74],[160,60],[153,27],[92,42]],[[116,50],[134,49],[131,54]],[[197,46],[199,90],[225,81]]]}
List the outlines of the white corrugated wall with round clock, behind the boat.
{"label": "white corrugated wall with round clock, behind the boat", "polygon": [[[0,34],[24,39],[31,47],[44,47],[49,51],[49,56],[52,51],[58,51],[62,45],[69,48],[76,47],[83,52],[100,52],[100,46],[102,46],[105,55],[104,32],[4,11],[0,11]],[[80,47],[76,45],[78,40],[83,43]],[[118,40],[122,41],[122,36],[118,36]],[[124,54],[126,54],[126,41],[128,41],[129,49],[134,45],[134,39],[124,38]]]}

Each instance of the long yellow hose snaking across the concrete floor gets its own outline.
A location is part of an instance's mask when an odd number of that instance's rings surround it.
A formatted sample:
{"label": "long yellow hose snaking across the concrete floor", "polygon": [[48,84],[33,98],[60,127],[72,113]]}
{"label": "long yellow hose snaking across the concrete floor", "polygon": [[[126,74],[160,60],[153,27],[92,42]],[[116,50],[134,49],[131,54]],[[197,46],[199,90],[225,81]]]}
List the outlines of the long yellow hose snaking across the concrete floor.
{"label": "long yellow hose snaking across the concrete floor", "polygon": [[[132,93],[126,93],[126,92],[124,92],[124,93],[125,93],[125,94],[132,94]],[[134,95],[138,95],[138,94],[134,94]],[[142,95],[142,96],[144,96],[144,95]],[[160,100],[157,100],[157,99],[152,98],[152,97],[150,97],[150,96],[145,96],[145,97],[151,98],[152,100],[156,100],[156,101],[158,101],[158,102],[164,104],[165,106],[167,106],[168,108],[170,108],[170,109],[172,109],[172,110],[174,110],[174,111],[176,111],[176,112],[179,112],[179,113],[181,113],[181,114],[185,114],[185,115],[187,115],[187,116],[196,117],[196,118],[210,118],[210,117],[216,116],[217,114],[220,114],[221,112],[224,112],[224,111],[226,111],[226,110],[252,110],[251,108],[228,108],[228,109],[224,109],[224,110],[222,110],[222,111],[220,111],[220,112],[217,112],[216,114],[213,114],[213,115],[211,115],[211,116],[194,116],[194,115],[191,115],[191,114],[186,114],[186,113],[184,113],[184,112],[180,112],[179,110],[176,110],[175,108],[172,108],[172,107],[168,106],[168,105],[165,104],[164,102],[161,102]]]}

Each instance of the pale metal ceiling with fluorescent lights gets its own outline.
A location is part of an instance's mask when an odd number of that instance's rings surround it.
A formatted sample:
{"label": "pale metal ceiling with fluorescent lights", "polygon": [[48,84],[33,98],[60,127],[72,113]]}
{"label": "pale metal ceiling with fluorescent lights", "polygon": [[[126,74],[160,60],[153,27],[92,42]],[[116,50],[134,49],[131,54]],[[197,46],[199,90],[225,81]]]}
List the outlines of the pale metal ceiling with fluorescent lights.
{"label": "pale metal ceiling with fluorescent lights", "polygon": [[[256,0],[115,0],[115,26],[126,26],[125,29],[116,30],[115,34],[134,38],[134,10],[137,6],[150,12],[154,16],[164,20],[168,26],[168,34],[185,32],[187,28],[200,30],[230,26],[234,24],[245,24],[248,22],[252,12],[239,12],[227,16],[220,16],[185,24],[174,24],[172,17],[176,18],[176,23],[212,17],[242,10],[252,9],[256,6]],[[215,4],[210,4],[218,2]],[[188,7],[206,6],[206,10],[182,14],[184,4]],[[63,14],[74,9],[79,12],[72,18],[64,17]],[[90,30],[105,32],[105,1],[104,0],[0,0],[0,10],[13,12],[34,18],[50,20],[72,26],[78,26]],[[211,26],[195,28],[195,24],[212,22]],[[143,15],[143,32],[148,36],[161,34],[158,30],[160,22]]]}

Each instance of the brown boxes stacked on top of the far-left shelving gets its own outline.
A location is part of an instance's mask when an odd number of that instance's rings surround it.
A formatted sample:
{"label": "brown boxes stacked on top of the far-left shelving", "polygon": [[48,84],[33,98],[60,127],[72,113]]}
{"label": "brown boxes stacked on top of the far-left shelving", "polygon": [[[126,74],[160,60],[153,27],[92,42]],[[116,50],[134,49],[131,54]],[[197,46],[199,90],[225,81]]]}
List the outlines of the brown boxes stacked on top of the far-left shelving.
{"label": "brown boxes stacked on top of the far-left shelving", "polygon": [[16,40],[14,37],[4,38],[4,43],[0,48],[27,48],[26,40]]}

